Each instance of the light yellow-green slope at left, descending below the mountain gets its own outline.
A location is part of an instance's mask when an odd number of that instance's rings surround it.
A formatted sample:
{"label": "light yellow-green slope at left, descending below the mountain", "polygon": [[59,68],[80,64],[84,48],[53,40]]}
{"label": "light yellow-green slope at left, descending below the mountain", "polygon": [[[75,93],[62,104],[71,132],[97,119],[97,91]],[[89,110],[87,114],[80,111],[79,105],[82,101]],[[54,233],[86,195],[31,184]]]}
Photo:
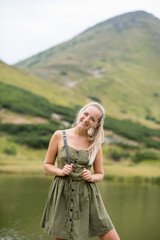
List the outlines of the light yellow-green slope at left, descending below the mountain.
{"label": "light yellow-green slope at left, descending below the mountain", "polygon": [[0,61],[0,82],[30,91],[56,104],[71,105],[72,99],[75,97],[74,92],[68,94],[63,87],[13,66],[8,66],[2,61]]}

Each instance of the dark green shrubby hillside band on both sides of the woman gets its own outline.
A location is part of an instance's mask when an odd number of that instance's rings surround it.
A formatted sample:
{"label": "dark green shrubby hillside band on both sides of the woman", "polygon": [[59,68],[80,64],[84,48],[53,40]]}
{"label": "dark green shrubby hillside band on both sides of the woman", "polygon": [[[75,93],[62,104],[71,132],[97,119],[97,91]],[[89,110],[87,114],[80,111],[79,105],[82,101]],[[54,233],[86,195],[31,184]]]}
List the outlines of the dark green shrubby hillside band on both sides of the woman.
{"label": "dark green shrubby hillside band on both sides of the woman", "polygon": [[[20,114],[22,117],[23,115],[39,116],[47,120],[43,124],[37,124],[37,122],[33,124],[24,124],[24,122],[13,124],[12,121],[3,122],[0,116],[1,136],[3,134],[11,136],[11,142],[27,144],[34,148],[46,148],[53,132],[57,129],[65,128],[66,123],[69,126],[73,122],[79,108],[78,106],[69,108],[51,103],[44,97],[2,82],[0,82],[0,96],[0,113],[7,109],[12,115],[16,113],[17,117]],[[56,114],[58,118],[52,117],[53,114]],[[129,119],[119,120],[111,116],[105,118],[104,128],[112,131],[111,138],[114,134],[117,134],[119,138],[123,137],[126,139],[125,141],[124,139],[120,141],[122,149],[128,148],[129,140],[135,141],[136,148],[140,145],[139,147],[142,149],[160,149],[160,129],[154,130],[139,123],[134,123]],[[132,147],[135,148],[134,143],[132,143]],[[124,155],[124,151],[121,154]]]}

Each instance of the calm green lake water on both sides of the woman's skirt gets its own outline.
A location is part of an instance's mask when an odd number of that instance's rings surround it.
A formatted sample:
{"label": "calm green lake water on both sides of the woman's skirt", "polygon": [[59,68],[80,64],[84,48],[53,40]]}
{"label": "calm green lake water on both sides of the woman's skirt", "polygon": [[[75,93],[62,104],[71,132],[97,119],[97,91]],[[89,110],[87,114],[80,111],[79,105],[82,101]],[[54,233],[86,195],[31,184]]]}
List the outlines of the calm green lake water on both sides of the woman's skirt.
{"label": "calm green lake water on both sides of the woman's skirt", "polygon": [[[0,240],[53,240],[39,227],[51,181],[50,176],[0,176]],[[97,185],[121,240],[159,240],[158,185]]]}

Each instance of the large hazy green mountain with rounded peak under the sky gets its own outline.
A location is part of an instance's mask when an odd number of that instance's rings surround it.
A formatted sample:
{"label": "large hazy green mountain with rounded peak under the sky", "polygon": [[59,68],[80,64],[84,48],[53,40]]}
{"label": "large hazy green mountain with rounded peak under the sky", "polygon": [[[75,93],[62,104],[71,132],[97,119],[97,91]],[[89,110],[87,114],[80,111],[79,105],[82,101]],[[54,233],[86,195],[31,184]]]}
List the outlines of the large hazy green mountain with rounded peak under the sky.
{"label": "large hazy green mountain with rounded peak under the sky", "polygon": [[74,93],[73,104],[97,100],[118,118],[160,119],[160,20],[144,11],[106,20],[15,66]]}

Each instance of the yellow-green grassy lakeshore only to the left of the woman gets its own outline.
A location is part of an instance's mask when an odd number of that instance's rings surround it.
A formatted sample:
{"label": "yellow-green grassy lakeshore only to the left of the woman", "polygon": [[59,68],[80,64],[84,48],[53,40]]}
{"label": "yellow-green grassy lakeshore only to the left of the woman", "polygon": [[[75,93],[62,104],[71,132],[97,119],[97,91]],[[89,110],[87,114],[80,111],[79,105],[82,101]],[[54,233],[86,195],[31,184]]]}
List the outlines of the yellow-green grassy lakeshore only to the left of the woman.
{"label": "yellow-green grassy lakeshore only to the left of the woman", "polygon": [[[5,154],[6,148],[14,149],[16,154]],[[0,173],[43,174],[43,161],[46,150],[36,150],[25,145],[8,141],[6,136],[0,139]]]}

